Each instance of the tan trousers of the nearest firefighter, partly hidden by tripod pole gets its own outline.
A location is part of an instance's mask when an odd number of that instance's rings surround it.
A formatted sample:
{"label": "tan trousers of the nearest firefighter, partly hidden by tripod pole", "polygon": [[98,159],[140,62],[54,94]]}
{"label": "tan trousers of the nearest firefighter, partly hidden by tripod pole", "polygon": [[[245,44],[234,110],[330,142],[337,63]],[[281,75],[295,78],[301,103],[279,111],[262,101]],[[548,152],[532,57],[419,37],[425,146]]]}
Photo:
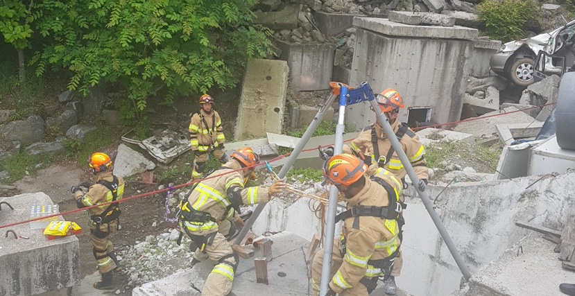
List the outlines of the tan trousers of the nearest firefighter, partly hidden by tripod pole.
{"label": "tan trousers of the nearest firefighter, partly hidden by tripod pole", "polygon": [[[334,240],[334,251],[332,252],[332,266],[331,270],[329,270],[329,279],[331,280],[334,275],[336,274],[337,270],[343,263],[343,258],[341,258],[341,254],[339,252],[339,243],[340,241],[336,238]],[[321,267],[323,265],[323,250],[320,250],[314,256],[314,261],[311,263],[311,282],[312,282],[312,292],[311,295],[318,296],[320,293],[320,281],[321,281]],[[343,290],[343,292],[338,294],[339,296],[367,296],[368,288],[363,286],[363,284],[357,283],[357,285],[353,286],[350,289]]]}

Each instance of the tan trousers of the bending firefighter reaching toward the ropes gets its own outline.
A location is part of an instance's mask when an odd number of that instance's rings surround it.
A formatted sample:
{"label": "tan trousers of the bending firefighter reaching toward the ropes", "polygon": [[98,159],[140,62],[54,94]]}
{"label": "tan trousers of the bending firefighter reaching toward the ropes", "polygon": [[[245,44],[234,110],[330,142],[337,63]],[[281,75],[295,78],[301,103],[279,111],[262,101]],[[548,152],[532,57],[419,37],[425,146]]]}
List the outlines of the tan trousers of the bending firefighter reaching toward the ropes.
{"label": "tan trousers of the bending firefighter reaching toward the ropes", "polygon": [[205,254],[196,250],[194,258],[199,261],[206,259],[206,256],[217,264],[214,266],[212,272],[209,273],[202,289],[202,296],[225,296],[232,291],[232,284],[234,282],[234,269],[231,265],[237,264],[234,257],[229,257],[220,261],[223,256],[233,254],[230,243],[225,239],[220,232],[216,233],[212,245],[207,245],[204,249]]}

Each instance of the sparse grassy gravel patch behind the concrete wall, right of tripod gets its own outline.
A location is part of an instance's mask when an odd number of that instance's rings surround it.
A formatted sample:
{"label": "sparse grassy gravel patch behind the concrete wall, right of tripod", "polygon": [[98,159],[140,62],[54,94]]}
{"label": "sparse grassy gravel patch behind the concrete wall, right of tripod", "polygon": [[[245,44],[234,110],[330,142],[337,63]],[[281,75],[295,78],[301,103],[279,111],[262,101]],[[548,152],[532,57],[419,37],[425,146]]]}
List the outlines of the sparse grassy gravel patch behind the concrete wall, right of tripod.
{"label": "sparse grassy gravel patch behind the concrete wall, right of tripod", "polygon": [[425,159],[429,168],[441,168],[442,163],[447,162],[470,166],[479,173],[495,173],[500,155],[499,146],[487,147],[462,141],[440,141],[425,146]]}

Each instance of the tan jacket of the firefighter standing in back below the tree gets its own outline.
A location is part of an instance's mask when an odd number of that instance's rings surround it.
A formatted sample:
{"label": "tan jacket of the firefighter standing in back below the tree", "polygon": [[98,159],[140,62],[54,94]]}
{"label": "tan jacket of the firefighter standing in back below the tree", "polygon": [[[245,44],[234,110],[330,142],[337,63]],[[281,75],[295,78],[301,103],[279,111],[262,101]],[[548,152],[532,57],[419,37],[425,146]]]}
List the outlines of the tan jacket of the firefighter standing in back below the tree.
{"label": "tan jacket of the firefighter standing in back below the tree", "polygon": [[189,123],[189,142],[191,150],[209,151],[225,142],[221,117],[216,110],[200,112],[191,116]]}

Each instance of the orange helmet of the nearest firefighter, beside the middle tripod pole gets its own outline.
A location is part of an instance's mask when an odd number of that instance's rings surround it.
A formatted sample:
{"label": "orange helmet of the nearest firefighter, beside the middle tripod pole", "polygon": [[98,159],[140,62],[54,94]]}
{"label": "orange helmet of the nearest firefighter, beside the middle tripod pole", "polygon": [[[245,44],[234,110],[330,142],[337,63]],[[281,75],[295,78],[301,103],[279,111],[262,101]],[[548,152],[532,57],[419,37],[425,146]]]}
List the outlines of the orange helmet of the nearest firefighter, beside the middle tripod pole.
{"label": "orange helmet of the nearest firefighter, beside the middle tripod pole", "polygon": [[323,176],[334,184],[350,185],[359,180],[367,169],[368,166],[359,157],[339,154],[323,163]]}

